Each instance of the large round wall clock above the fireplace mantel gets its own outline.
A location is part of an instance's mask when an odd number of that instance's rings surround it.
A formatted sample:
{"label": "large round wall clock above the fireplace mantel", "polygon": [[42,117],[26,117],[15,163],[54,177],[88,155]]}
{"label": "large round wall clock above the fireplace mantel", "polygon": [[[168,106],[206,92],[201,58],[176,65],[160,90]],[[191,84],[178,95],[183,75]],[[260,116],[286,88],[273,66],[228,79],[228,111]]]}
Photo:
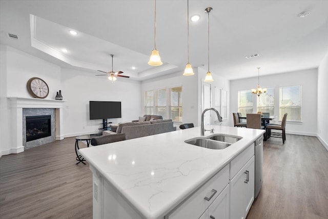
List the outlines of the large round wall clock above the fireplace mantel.
{"label": "large round wall clock above the fireplace mantel", "polygon": [[43,79],[32,77],[27,82],[27,90],[36,98],[46,98],[49,94],[49,87]]}

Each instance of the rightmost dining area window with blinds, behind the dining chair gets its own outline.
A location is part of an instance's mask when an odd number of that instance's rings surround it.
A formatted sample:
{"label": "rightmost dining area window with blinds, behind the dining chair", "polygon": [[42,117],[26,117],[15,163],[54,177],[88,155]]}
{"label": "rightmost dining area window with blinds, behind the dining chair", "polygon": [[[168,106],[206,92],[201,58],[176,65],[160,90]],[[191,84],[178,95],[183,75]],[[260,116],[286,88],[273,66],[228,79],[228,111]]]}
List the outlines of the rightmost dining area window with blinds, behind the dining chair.
{"label": "rightmost dining area window with blinds, behind the dining chair", "polygon": [[279,120],[288,113],[287,121],[301,122],[301,86],[279,88]]}

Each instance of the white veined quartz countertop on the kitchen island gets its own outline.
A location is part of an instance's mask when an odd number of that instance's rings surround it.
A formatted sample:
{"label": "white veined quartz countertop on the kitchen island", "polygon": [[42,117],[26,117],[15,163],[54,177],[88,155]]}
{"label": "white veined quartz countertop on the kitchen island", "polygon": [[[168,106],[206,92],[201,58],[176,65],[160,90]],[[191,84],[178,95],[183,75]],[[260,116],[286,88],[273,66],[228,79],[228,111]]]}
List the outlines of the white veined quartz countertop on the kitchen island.
{"label": "white veined quartz countertop on the kitchen island", "polygon": [[[200,137],[200,127],[195,127],[79,151],[141,216],[160,218],[264,133],[260,129],[211,128],[214,133],[243,138],[223,150],[202,148],[185,143]],[[208,135],[213,133],[206,131]]]}

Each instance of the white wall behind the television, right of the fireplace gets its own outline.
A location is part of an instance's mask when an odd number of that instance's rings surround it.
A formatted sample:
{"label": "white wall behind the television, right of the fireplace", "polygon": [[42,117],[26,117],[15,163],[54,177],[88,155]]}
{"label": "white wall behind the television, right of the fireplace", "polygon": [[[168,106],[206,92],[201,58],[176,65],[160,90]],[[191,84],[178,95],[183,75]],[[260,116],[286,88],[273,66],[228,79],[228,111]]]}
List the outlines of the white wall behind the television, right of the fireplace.
{"label": "white wall behind the television, right of the fireplace", "polygon": [[96,71],[61,68],[65,137],[101,132],[98,128],[102,127],[102,120],[90,120],[89,101],[120,101],[122,117],[109,119],[113,124],[131,122],[141,114],[140,82],[119,77],[112,83],[95,74]]}

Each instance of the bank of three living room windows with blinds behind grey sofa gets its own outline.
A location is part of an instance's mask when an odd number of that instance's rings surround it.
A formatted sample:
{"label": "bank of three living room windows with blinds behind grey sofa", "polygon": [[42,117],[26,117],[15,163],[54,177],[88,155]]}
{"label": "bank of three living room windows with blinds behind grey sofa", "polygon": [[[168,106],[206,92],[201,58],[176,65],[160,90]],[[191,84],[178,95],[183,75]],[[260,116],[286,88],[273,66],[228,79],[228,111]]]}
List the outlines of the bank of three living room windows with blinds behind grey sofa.
{"label": "bank of three living room windows with blinds behind grey sofa", "polygon": [[145,114],[182,122],[182,86],[145,91]]}

